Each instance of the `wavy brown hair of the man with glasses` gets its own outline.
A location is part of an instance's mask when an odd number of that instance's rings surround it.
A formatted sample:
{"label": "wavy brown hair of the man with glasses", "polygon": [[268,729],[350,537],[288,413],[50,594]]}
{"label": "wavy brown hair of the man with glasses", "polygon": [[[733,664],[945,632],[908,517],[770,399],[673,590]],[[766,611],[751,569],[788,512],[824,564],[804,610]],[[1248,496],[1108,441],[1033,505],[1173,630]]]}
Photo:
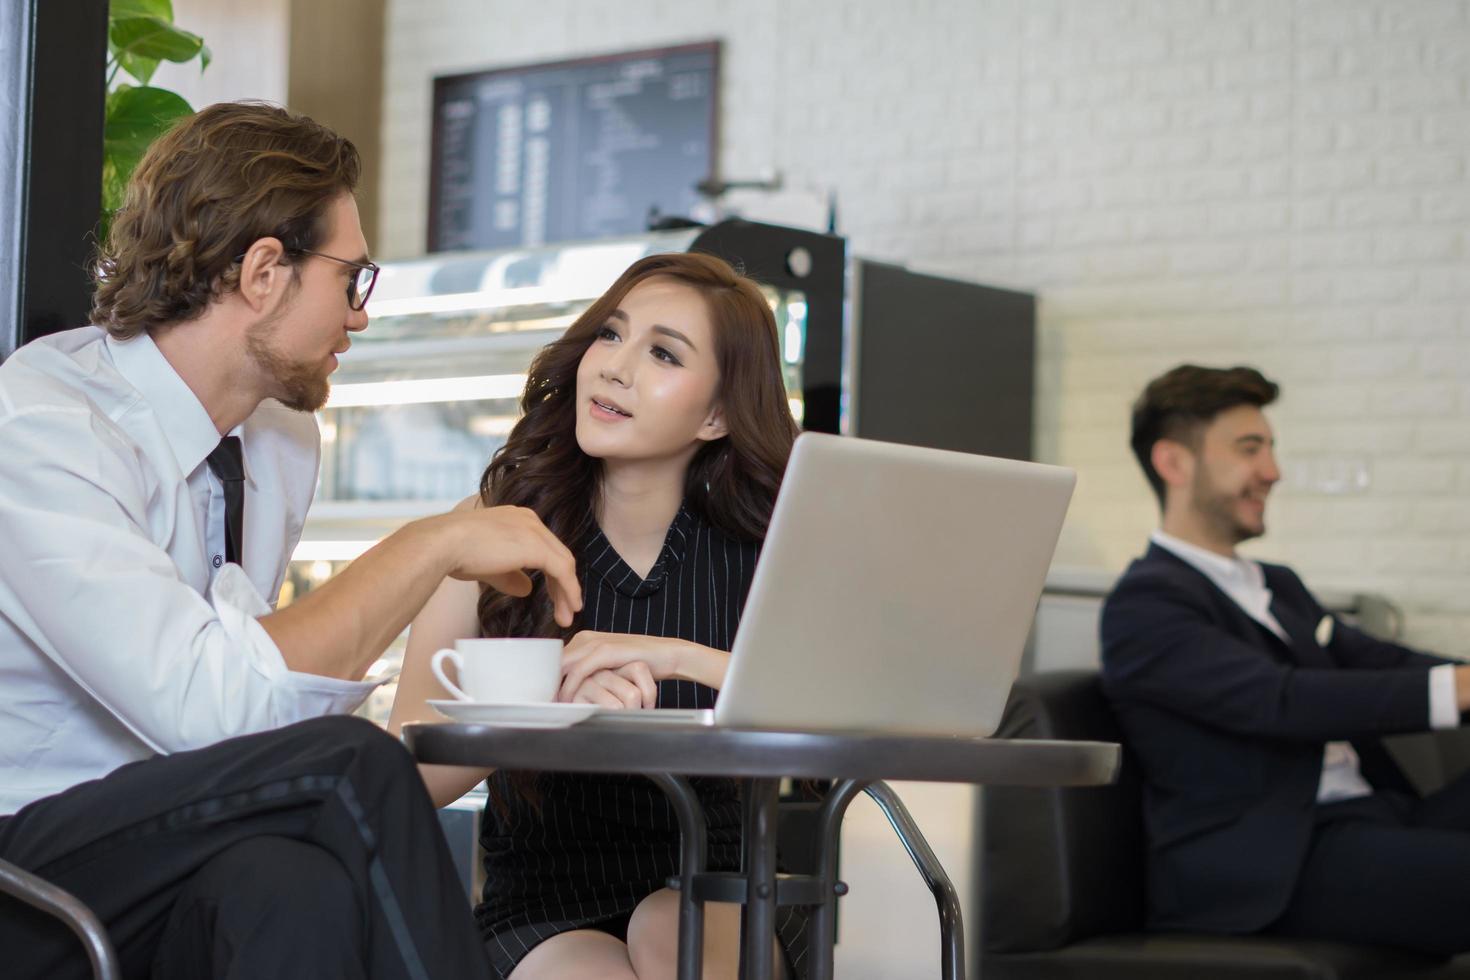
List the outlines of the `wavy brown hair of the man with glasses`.
{"label": "wavy brown hair of the man with glasses", "polygon": [[118,339],[191,320],[240,285],[257,239],[288,256],[329,234],[331,203],[357,187],[357,148],[278,106],[219,103],[159,137],[128,181],[93,263],[93,323]]}

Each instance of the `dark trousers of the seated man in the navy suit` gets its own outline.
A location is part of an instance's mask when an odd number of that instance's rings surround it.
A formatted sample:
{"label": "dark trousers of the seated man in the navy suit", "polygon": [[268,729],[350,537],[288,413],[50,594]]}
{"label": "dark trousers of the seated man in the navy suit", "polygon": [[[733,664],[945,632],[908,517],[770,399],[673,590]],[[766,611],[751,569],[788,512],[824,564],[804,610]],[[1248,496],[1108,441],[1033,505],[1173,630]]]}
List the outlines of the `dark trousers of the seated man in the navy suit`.
{"label": "dark trousers of the seated man in the navy suit", "polygon": [[1376,793],[1319,807],[1297,890],[1270,932],[1470,951],[1470,774],[1424,799]]}

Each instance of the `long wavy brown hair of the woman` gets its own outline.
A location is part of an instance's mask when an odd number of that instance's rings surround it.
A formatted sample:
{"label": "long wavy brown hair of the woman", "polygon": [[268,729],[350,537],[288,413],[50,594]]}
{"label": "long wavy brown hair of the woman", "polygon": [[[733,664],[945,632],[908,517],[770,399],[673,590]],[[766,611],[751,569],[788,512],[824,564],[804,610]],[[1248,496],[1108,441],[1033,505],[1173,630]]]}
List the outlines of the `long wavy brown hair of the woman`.
{"label": "long wavy brown hair of the woman", "polygon": [[[529,507],[551,532],[576,547],[595,520],[603,464],[576,442],[576,369],[623,297],[645,279],[682,282],[704,297],[714,328],[719,366],[716,398],[728,435],[704,444],[685,476],[685,504],[723,533],[760,541],[797,438],[781,376],[776,319],[760,288],[729,263],[700,253],[648,256],[635,262],[562,338],[531,361],[520,397],[522,417],[479,482],[485,505]],[[562,630],[539,573],[526,598],[487,589],[479,599],[485,636],[569,638]]]}

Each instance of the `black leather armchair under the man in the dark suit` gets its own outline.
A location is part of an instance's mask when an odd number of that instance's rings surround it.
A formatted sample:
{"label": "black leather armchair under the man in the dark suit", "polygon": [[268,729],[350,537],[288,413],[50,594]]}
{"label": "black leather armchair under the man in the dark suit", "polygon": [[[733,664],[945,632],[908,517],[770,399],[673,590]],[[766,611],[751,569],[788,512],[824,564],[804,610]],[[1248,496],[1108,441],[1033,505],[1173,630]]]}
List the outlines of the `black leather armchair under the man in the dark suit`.
{"label": "black leather armchair under the man in the dark suit", "polygon": [[[1429,789],[1466,757],[1464,733],[1396,739],[1389,751]],[[1095,671],[1016,682],[998,738],[1122,742]],[[1138,765],[1126,752],[1119,782],[1088,789],[986,788],[980,976],[986,980],[1113,977],[1347,980],[1470,979],[1452,961],[1348,943],[1276,936],[1144,932],[1144,824]]]}

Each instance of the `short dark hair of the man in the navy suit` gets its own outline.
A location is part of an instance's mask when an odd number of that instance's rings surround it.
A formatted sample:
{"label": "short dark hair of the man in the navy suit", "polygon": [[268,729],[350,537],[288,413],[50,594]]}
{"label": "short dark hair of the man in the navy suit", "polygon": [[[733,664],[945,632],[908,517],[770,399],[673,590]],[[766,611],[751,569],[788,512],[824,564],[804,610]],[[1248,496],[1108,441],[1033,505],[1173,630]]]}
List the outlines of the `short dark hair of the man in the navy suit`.
{"label": "short dark hair of the man in the navy suit", "polygon": [[1173,439],[1198,450],[1200,433],[1210,422],[1236,406],[1264,408],[1276,401],[1280,388],[1254,367],[1201,367],[1180,364],[1148,382],[1133,403],[1130,444],[1160,507],[1164,480],[1154,469],[1154,444]]}

